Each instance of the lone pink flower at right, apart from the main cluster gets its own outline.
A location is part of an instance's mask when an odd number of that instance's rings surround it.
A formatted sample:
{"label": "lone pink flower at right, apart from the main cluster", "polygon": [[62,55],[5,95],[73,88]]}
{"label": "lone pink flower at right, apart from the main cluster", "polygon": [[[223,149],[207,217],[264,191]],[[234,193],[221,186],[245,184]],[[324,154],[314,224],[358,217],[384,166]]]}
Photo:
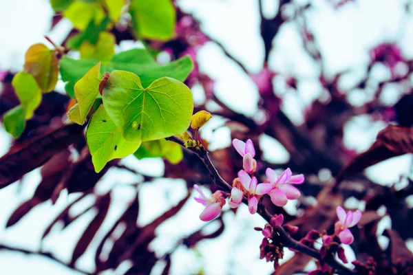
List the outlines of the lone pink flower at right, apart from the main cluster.
{"label": "lone pink flower at right, apart from the main cluster", "polygon": [[335,234],[338,234],[341,243],[350,245],[354,241],[354,236],[348,228],[352,228],[361,219],[361,212],[356,210],[354,212],[344,210],[341,206],[337,206],[337,217],[339,221],[335,223]]}

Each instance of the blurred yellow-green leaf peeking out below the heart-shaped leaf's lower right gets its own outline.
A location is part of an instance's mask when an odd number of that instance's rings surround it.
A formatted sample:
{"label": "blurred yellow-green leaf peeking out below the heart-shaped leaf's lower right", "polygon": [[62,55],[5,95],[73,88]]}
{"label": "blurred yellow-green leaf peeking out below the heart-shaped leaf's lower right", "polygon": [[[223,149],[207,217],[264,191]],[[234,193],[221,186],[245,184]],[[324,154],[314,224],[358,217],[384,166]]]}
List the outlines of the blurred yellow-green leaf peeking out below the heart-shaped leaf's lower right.
{"label": "blurred yellow-green leaf peeking out below the heart-shaped leaf's lower right", "polygon": [[145,157],[165,157],[172,164],[180,162],[184,156],[179,144],[163,138],[150,142],[142,142],[134,155],[138,159]]}

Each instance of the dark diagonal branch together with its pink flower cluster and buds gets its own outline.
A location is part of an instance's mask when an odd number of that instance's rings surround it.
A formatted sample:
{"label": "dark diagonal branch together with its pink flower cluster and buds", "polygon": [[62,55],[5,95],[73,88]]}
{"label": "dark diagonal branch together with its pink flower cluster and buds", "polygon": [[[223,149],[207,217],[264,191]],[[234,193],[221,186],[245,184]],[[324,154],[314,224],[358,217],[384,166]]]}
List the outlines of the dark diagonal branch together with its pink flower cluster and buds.
{"label": "dark diagonal branch together with its pink flower cluster and buds", "polygon": [[[297,241],[295,239],[293,239],[292,236],[290,236],[290,233],[294,233],[297,232],[298,228],[295,226],[291,226],[291,225],[282,225],[283,221],[284,221],[284,217],[282,216],[282,214],[280,215],[272,215],[270,214],[270,212],[268,212],[268,210],[265,208],[265,206],[263,206],[261,203],[259,203],[259,201],[257,200],[256,196],[260,196],[257,194],[270,194],[271,196],[271,200],[273,201],[273,203],[275,203],[276,205],[280,205],[282,203],[284,203],[284,196],[285,197],[295,197],[297,194],[295,192],[295,190],[293,190],[293,188],[281,188],[282,186],[285,186],[286,183],[286,179],[288,179],[290,181],[290,183],[298,183],[299,181],[301,181],[301,177],[302,177],[302,181],[304,181],[304,176],[302,175],[297,175],[297,176],[291,176],[290,175],[290,171],[289,169],[284,171],[283,175],[281,175],[281,177],[279,177],[279,179],[275,179],[275,171],[271,172],[269,170],[271,169],[267,169],[267,177],[268,177],[268,181],[269,182],[265,182],[262,183],[264,186],[260,186],[260,184],[256,184],[256,178],[253,177],[253,179],[251,179],[250,175],[248,175],[248,173],[244,170],[244,172],[242,172],[243,170],[240,171],[239,173],[239,177],[238,180],[235,179],[234,180],[234,185],[235,186],[231,186],[231,184],[229,184],[228,182],[226,182],[221,176],[220,173],[218,173],[218,170],[215,168],[215,166],[213,165],[213,163],[211,162],[211,159],[209,157],[209,152],[204,148],[204,146],[188,146],[188,144],[190,142],[184,142],[184,140],[180,139],[180,137],[177,136],[171,136],[171,137],[167,137],[166,140],[169,140],[171,142],[175,142],[177,144],[180,144],[180,146],[183,146],[184,148],[187,148],[188,151],[191,151],[192,153],[195,153],[195,155],[197,155],[200,160],[202,161],[202,163],[204,164],[204,166],[207,168],[207,170],[209,171],[209,175],[211,178],[211,182],[217,186],[219,186],[222,191],[217,191],[213,194],[213,196],[211,196],[210,199],[207,199],[207,197],[203,194],[202,190],[200,190],[200,188],[198,186],[195,186],[195,189],[198,190],[198,192],[200,192],[201,197],[199,198],[195,198],[196,201],[204,204],[204,206],[206,206],[204,212],[202,212],[200,218],[204,221],[209,221],[215,217],[218,216],[218,214],[220,213],[220,210],[222,208],[222,206],[224,205],[225,201],[224,198],[229,196],[229,193],[231,193],[231,198],[230,198],[230,206],[231,207],[235,207],[235,206],[239,206],[240,205],[240,197],[241,197],[241,201],[243,203],[245,203],[246,205],[248,205],[248,209],[250,210],[251,213],[255,213],[257,212],[258,214],[260,214],[260,216],[267,221],[267,225],[264,228],[264,230],[262,230],[263,234],[264,234],[264,241],[261,245],[261,250],[262,253],[264,252],[265,248],[273,248],[273,246],[271,247],[271,243],[273,243],[274,241],[277,241],[277,245],[282,247],[286,247],[289,248],[290,250],[293,251],[297,251],[297,252],[301,252],[304,253],[308,256],[313,257],[314,259],[317,259],[318,261],[320,261],[321,263],[325,263],[326,265],[330,266],[332,268],[332,271],[337,272],[338,274],[343,274],[343,275],[350,275],[350,274],[357,274],[357,272],[355,272],[354,270],[350,270],[347,267],[345,267],[344,265],[342,265],[341,263],[339,263],[338,261],[335,260],[334,254],[332,253],[324,253],[323,250],[325,250],[326,245],[323,246],[324,249],[322,250],[315,250],[314,248],[306,245],[306,243],[304,241]],[[244,148],[244,159],[245,159],[245,155],[249,154],[251,155],[251,157],[253,157],[252,150],[253,147],[251,148],[252,142],[250,144],[250,141],[247,141],[245,144],[245,148]],[[235,148],[237,149],[237,151],[240,153],[240,151],[242,152],[242,145],[244,142],[241,143],[241,141],[237,141],[235,140],[233,143],[235,143]],[[242,154],[241,154],[242,155]],[[249,156],[246,157],[246,161],[244,161],[244,168],[248,168],[248,159]],[[247,166],[247,167],[246,167]],[[255,170],[255,169],[254,169]],[[248,178],[251,179],[251,181],[249,182],[249,186],[248,188],[245,188],[246,183],[248,181]],[[284,181],[284,182],[282,182]],[[301,183],[302,183],[301,181]],[[279,186],[277,184],[279,183],[283,183],[280,184]],[[260,187],[259,187],[260,186]],[[288,185],[287,185],[288,186]],[[271,187],[271,188],[270,188]],[[291,186],[293,187],[293,186]],[[248,189],[251,191],[255,191],[254,194],[249,194],[247,196],[247,198],[244,197],[244,192],[240,192],[240,190],[242,190],[242,188],[247,189],[246,192],[248,193]],[[253,190],[254,189],[254,190]],[[277,190],[278,189],[278,190]],[[279,194],[279,191],[282,191],[284,189],[284,191],[286,190],[286,192],[284,192],[284,195],[281,196],[276,196],[275,194]],[[274,191],[275,190],[275,191]],[[293,190],[293,191],[291,191]],[[273,194],[271,194],[271,192],[273,192]],[[240,194],[242,193],[242,196],[240,196]],[[281,197],[281,199],[279,199],[279,197]],[[295,197],[296,198],[296,197]],[[255,206],[255,200],[257,200],[257,205]],[[278,203],[278,204],[277,204]],[[286,203],[286,201],[285,201]],[[284,205],[285,205],[284,203]],[[354,222],[352,222],[354,223]],[[357,222],[356,222],[357,223]],[[271,229],[268,229],[271,228]],[[318,236],[317,236],[318,238]],[[270,240],[270,243],[268,243],[268,240]],[[271,242],[272,240],[272,242]],[[314,241],[313,241],[314,243]],[[328,243],[328,245],[332,245],[333,243]],[[269,246],[268,246],[269,245]],[[336,248],[337,250],[337,248]],[[279,251],[279,248],[277,249],[277,251]],[[282,251],[282,250],[281,250]],[[281,256],[281,257],[280,257]],[[269,256],[268,255],[262,255],[262,258],[266,257],[267,261],[275,261],[275,268],[277,267],[277,260],[282,258],[282,255],[272,255]],[[340,257],[342,258],[342,257]],[[325,269],[325,268],[324,268]]]}

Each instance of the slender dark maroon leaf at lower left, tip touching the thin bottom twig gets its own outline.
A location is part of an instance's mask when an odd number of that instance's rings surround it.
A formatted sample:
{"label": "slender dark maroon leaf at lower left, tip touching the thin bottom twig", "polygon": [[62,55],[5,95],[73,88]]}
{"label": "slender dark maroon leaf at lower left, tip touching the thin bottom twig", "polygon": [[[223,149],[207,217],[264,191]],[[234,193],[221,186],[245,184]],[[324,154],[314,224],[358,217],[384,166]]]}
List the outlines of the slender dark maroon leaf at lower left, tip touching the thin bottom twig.
{"label": "slender dark maroon leaf at lower left, tip touching the thin bottom twig", "polygon": [[94,217],[89,225],[87,225],[85,232],[83,232],[81,239],[79,239],[76,247],[74,248],[72,260],[69,264],[70,266],[74,266],[74,263],[76,263],[76,261],[80,258],[80,256],[83,255],[83,253],[85,253],[87,247],[92,242],[92,239],[96,235],[96,232],[98,232],[100,225],[102,225],[103,221],[105,220],[107,211],[109,210],[110,201],[110,192],[103,197],[100,197],[98,201],[96,201],[95,207],[98,210],[98,214],[96,214],[96,217]]}

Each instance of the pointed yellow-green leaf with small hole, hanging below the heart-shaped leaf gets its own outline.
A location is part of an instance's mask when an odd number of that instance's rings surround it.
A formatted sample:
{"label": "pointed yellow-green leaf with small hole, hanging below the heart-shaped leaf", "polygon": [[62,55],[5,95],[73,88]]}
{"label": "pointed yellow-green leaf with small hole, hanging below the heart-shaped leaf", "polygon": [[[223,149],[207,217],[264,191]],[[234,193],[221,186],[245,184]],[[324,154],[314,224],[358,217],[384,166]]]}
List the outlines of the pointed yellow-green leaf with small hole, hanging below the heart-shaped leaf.
{"label": "pointed yellow-green leaf with small hole, hanging below the heart-shaped leaf", "polygon": [[96,173],[99,173],[109,160],[134,153],[141,143],[125,140],[103,105],[100,105],[87,126],[86,140]]}

